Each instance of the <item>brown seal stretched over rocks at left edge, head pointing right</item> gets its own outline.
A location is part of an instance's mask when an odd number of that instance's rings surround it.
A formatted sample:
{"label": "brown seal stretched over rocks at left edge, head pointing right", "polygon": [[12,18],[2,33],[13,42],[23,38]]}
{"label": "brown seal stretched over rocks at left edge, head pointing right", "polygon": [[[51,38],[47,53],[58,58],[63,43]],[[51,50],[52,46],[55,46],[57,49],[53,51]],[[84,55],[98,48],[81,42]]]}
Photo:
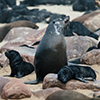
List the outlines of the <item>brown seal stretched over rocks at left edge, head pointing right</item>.
{"label": "brown seal stretched over rocks at left edge, head pointing right", "polygon": [[15,21],[9,24],[4,25],[3,27],[0,27],[0,42],[4,39],[6,34],[15,27],[30,27],[33,29],[38,29],[39,27],[35,25],[31,21]]}

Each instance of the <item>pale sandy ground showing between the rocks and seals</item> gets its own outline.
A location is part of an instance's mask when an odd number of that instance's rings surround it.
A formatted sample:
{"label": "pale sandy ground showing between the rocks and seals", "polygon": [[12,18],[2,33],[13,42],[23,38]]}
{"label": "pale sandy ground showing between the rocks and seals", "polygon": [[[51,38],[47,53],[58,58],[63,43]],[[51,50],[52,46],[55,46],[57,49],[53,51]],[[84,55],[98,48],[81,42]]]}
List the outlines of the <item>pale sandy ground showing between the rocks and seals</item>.
{"label": "pale sandy ground showing between the rocks and seals", "polygon": [[[22,0],[19,0],[19,1],[22,1]],[[17,3],[18,4],[18,3]],[[65,15],[70,15],[71,17],[71,20],[78,17],[78,16],[81,16],[84,12],[76,12],[76,11],[73,11],[72,10],[72,6],[63,6],[63,5],[53,5],[53,6],[50,6],[50,5],[40,5],[40,6],[35,6],[35,7],[28,7],[29,9],[33,9],[33,8],[39,8],[39,9],[47,9],[47,11],[51,11],[53,13],[59,13],[59,14],[65,14]],[[0,24],[0,26],[3,26],[4,24]],[[45,24],[44,22],[42,23],[37,23],[37,25],[39,26],[40,29],[42,28],[45,28],[47,26],[47,24]],[[0,47],[3,45],[4,43],[1,43],[0,44]],[[93,69],[95,69],[96,71],[98,71],[100,73],[100,65],[93,65],[91,66]],[[10,67],[9,66],[6,66],[5,68],[2,68],[0,70],[0,76],[3,76],[3,75],[9,75],[10,74]],[[97,80],[100,80],[100,75],[97,74]],[[9,78],[9,77],[7,77]],[[13,79],[13,78],[10,78],[10,79]],[[27,75],[23,78],[21,78],[22,81],[32,81],[35,79],[35,73],[33,72],[32,74],[30,75]],[[42,89],[42,84],[38,84],[38,85],[27,85],[31,90],[34,90],[34,91],[38,91],[38,90],[41,90]],[[93,91],[91,90],[76,90],[80,93],[83,93],[89,97],[92,97],[93,95]],[[24,99],[24,100],[33,100],[32,98],[34,98],[33,96],[29,99]],[[0,99],[2,100],[2,99]]]}

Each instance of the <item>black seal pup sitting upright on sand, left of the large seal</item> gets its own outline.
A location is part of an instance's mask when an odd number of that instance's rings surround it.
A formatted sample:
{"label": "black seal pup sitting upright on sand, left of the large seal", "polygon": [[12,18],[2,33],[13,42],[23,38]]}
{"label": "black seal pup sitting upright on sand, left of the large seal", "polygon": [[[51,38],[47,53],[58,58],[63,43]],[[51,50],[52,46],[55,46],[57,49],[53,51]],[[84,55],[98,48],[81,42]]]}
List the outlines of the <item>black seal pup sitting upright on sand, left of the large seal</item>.
{"label": "black seal pup sitting upright on sand, left of the large seal", "polygon": [[21,78],[34,71],[34,66],[31,63],[23,61],[19,52],[10,50],[5,52],[5,55],[10,62],[11,77],[14,77],[16,75],[17,78]]}

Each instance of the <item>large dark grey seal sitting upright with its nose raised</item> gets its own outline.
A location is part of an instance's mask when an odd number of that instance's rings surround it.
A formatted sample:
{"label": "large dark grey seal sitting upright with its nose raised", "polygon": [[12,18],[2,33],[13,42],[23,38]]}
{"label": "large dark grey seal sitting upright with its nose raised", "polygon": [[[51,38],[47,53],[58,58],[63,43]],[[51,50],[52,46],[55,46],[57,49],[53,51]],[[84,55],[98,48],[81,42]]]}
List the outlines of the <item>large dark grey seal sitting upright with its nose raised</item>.
{"label": "large dark grey seal sitting upright with its nose raised", "polygon": [[35,54],[36,80],[24,83],[37,84],[43,81],[48,73],[58,73],[63,66],[67,65],[64,28],[69,25],[69,20],[69,16],[57,18],[48,25]]}

